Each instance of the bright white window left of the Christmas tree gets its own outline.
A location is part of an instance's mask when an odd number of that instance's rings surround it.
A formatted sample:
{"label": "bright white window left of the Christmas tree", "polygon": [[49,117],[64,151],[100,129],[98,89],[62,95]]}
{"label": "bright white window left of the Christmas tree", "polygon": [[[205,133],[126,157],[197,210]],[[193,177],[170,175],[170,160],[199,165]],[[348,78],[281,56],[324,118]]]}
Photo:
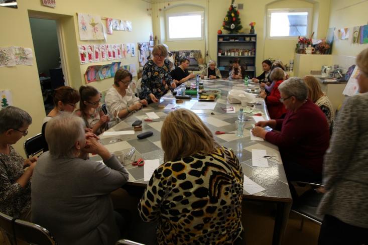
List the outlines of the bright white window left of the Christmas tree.
{"label": "bright white window left of the Christmas tree", "polygon": [[167,14],[167,40],[202,40],[203,26],[203,12]]}

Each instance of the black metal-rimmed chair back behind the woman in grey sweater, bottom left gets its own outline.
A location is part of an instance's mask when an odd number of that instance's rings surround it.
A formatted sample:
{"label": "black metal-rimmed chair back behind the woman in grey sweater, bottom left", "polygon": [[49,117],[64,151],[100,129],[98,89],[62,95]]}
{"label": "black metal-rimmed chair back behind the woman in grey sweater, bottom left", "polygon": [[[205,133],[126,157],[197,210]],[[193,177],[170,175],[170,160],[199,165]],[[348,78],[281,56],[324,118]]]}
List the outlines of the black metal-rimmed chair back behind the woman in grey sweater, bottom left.
{"label": "black metal-rimmed chair back behind the woman in grey sweater, bottom left", "polygon": [[17,239],[26,241],[29,244],[55,245],[56,241],[50,232],[44,227],[21,219],[14,222],[14,230]]}

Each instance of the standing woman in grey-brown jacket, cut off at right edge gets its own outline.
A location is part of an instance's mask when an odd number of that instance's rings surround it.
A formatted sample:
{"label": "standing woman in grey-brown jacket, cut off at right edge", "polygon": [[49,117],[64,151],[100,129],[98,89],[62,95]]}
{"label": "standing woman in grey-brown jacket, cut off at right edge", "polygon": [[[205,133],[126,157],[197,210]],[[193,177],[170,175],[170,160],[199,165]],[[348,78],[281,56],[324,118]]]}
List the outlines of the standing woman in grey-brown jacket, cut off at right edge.
{"label": "standing woman in grey-brown jacket, cut off at right edge", "polygon": [[320,245],[368,244],[368,49],[356,65],[359,94],[345,99],[324,158]]}

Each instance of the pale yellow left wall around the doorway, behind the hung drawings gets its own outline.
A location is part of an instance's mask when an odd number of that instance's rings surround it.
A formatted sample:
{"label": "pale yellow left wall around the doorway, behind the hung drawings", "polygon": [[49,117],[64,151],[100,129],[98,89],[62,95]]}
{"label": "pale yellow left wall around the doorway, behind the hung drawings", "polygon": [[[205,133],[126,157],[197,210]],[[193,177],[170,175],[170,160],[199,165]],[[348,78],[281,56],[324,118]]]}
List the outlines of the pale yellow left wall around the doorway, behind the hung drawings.
{"label": "pale yellow left wall around the doorway, behind the hung drawings", "polygon": [[[139,0],[109,0],[108,4],[101,1],[57,1],[55,9],[44,7],[39,0],[18,0],[18,9],[0,7],[0,47],[21,46],[33,47],[28,11],[35,16],[58,19],[61,25],[61,32],[64,37],[65,52],[63,55],[67,61],[69,71],[69,84],[78,88],[84,84],[83,74],[88,65],[80,65],[77,44],[100,44],[103,41],[80,41],[78,33],[76,13],[87,13],[99,15],[101,17],[130,20],[133,23],[133,32],[114,31],[113,35],[107,36],[108,44],[113,43],[135,43],[149,40],[152,32],[152,17],[147,12],[151,8],[150,4]],[[102,21],[104,24],[105,21]],[[37,58],[37,57],[36,57]],[[108,64],[111,61],[93,63]],[[138,68],[138,53],[136,57],[129,57],[122,60],[122,64],[136,63]],[[10,89],[13,93],[13,103],[28,111],[33,124],[29,128],[29,135],[34,136],[41,131],[42,120],[45,116],[43,99],[36,59],[33,66],[14,66],[0,68],[1,89]],[[105,79],[99,82],[90,83],[99,90],[107,89],[113,83],[113,79]],[[16,145],[16,150],[23,154],[23,140]]]}

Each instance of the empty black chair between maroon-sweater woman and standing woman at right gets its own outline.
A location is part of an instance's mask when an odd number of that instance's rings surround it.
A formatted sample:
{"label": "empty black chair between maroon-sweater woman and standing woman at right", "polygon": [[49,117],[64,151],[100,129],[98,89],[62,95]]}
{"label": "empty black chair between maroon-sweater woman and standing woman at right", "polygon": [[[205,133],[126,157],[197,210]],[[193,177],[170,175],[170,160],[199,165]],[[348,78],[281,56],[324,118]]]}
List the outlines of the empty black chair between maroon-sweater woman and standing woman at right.
{"label": "empty black chair between maroon-sweater woman and standing woman at right", "polygon": [[[308,184],[312,187],[323,187],[318,183],[309,182],[297,182],[298,184]],[[317,224],[322,224],[323,215],[317,214],[317,207],[321,202],[323,193],[317,192],[315,188],[311,188],[304,192],[297,200],[294,201],[291,211],[302,216],[302,222],[300,224],[300,230],[303,229],[304,218],[310,219]]]}

